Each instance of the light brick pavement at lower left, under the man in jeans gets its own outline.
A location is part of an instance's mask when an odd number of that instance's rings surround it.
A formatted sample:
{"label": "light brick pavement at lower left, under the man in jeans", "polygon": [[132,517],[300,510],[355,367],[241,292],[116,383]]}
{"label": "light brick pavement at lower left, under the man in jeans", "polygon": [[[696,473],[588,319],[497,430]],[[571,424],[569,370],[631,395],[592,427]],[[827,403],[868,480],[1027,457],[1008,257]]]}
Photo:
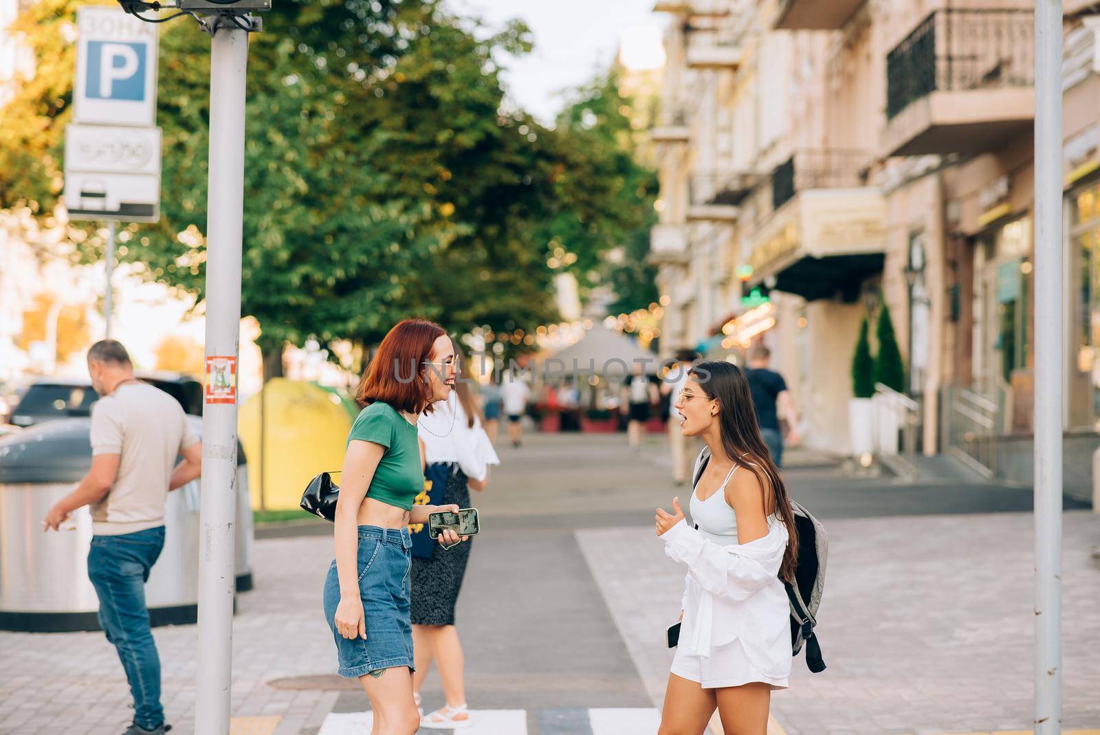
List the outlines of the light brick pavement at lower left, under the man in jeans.
{"label": "light brick pavement at lower left, under the man in jeans", "polygon": [[[332,638],[319,602],[331,555],[328,537],[256,542],[256,586],[238,595],[233,621],[232,714],[242,718],[235,723],[241,735],[298,735],[307,726],[320,727],[331,709],[332,692],[266,683],[334,672]],[[168,721],[176,732],[193,732],[198,628],[160,627],[153,635]],[[0,632],[0,734],[118,735],[130,722],[122,667],[102,633]]]}

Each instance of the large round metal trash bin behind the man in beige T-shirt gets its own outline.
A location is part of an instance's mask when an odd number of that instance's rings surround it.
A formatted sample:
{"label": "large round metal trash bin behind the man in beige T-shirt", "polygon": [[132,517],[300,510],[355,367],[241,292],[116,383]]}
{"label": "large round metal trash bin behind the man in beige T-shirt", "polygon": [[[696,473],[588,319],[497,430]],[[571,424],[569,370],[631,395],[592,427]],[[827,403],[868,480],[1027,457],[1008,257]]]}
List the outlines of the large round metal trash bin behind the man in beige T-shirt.
{"label": "large round metal trash bin behind the man in beige T-shirt", "polygon": [[[201,419],[188,416],[196,432]],[[0,438],[0,629],[95,630],[99,601],[88,581],[91,514],[75,512],[69,530],[44,534],[42,519],[91,467],[89,418],[46,421]],[[252,586],[252,511],[244,451],[238,448],[234,572]],[[164,550],[145,600],[152,624],[198,616],[199,483],[168,494]]]}

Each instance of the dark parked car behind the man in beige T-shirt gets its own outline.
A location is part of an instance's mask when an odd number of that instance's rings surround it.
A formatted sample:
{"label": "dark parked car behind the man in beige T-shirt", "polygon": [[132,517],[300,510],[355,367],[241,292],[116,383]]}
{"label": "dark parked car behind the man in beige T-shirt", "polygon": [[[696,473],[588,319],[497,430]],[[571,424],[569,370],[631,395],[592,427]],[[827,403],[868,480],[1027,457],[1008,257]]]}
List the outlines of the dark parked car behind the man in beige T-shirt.
{"label": "dark parked car behind the man in beige T-shirt", "polygon": [[[138,377],[178,401],[185,413],[202,415],[202,384],[194,377],[177,373],[142,373]],[[25,428],[58,418],[90,416],[91,405],[98,399],[91,381],[40,380],[28,387],[11,414],[11,424]]]}

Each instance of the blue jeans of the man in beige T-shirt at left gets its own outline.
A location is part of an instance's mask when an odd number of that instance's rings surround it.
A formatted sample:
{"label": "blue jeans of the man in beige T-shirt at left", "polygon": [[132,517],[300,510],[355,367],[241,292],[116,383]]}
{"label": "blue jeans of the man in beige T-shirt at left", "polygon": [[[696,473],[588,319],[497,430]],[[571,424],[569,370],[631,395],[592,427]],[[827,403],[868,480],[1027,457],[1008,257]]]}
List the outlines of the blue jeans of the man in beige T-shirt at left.
{"label": "blue jeans of the man in beige T-shirt at left", "polygon": [[161,657],[148,625],[145,582],[161,549],[164,526],[120,536],[92,536],[88,578],[99,595],[99,625],[119,651],[134,698],[134,722],[145,729],[164,724]]}

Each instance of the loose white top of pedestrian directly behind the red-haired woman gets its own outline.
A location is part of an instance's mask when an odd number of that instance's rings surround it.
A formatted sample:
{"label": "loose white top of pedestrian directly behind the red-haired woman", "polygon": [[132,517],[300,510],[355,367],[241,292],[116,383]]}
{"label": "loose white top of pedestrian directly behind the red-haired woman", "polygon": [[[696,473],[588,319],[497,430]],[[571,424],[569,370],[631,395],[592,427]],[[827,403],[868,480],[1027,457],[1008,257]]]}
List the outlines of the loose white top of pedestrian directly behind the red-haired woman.
{"label": "loose white top of pedestrian directly behind the red-haired woman", "polygon": [[488,467],[501,463],[481,420],[475,416],[471,427],[462,402],[457,397],[433,404],[430,414],[422,414],[417,434],[424,441],[425,459],[429,464],[457,462],[471,480],[484,480]]}

